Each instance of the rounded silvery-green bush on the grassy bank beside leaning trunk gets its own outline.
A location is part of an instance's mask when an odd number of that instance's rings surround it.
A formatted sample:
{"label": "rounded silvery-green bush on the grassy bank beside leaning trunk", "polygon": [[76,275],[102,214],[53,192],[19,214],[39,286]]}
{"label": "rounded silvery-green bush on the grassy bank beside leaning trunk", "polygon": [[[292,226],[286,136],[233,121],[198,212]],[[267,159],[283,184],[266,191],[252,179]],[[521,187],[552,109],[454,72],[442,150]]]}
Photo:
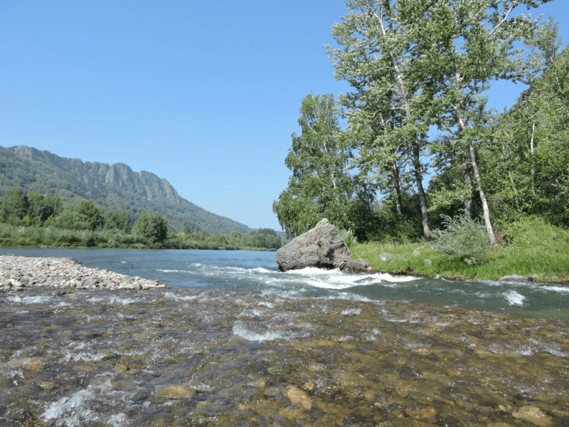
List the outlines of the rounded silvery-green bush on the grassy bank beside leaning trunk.
{"label": "rounded silvery-green bush on the grassy bank beside leaning trunk", "polygon": [[488,263],[490,242],[482,223],[469,216],[443,216],[443,230],[432,233],[432,245],[445,260],[461,260],[469,265]]}

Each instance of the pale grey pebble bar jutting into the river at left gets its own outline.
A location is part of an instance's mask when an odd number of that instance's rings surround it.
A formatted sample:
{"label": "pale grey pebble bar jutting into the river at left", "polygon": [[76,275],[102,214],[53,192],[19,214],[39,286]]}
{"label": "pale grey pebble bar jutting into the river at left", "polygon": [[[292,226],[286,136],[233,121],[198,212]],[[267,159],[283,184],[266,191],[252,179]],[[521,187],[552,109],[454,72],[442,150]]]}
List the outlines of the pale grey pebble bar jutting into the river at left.
{"label": "pale grey pebble bar jutting into the river at left", "polygon": [[32,286],[108,290],[166,288],[158,280],[83,267],[71,258],[0,256],[0,290],[24,290]]}

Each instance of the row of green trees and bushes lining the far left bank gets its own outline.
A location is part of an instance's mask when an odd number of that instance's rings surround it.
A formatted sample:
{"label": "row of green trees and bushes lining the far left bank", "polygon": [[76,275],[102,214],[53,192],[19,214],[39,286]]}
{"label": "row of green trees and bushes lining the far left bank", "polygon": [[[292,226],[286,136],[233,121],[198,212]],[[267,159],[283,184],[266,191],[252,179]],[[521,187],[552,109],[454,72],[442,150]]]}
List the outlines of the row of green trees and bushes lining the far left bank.
{"label": "row of green trees and bushes lining the far left bank", "polygon": [[[280,236],[270,228],[253,230],[242,235],[211,236],[207,231],[167,233],[167,219],[156,212],[141,211],[131,229],[129,215],[102,209],[92,201],[78,206],[68,204],[61,209],[57,195],[43,196],[34,191],[24,195],[20,189],[7,192],[4,204],[9,223],[0,221],[0,246],[80,246],[100,248],[179,248],[179,249],[255,249],[275,251],[282,246]],[[0,203],[4,199],[0,199]],[[14,206],[28,206],[26,216]],[[18,216],[14,214],[18,212]],[[4,218],[4,216],[2,216]],[[46,219],[44,219],[46,218]],[[103,227],[104,225],[104,227]]]}

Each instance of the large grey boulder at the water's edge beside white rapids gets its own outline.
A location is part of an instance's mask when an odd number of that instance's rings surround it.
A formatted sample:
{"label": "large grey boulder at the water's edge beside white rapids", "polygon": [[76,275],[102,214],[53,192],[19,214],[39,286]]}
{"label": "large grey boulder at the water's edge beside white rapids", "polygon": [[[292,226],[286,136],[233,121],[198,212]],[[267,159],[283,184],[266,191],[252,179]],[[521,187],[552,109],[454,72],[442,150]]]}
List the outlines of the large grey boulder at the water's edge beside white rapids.
{"label": "large grey boulder at the water's edge beside white rapids", "polygon": [[326,218],[277,251],[281,271],[307,267],[342,268],[349,259],[346,242]]}

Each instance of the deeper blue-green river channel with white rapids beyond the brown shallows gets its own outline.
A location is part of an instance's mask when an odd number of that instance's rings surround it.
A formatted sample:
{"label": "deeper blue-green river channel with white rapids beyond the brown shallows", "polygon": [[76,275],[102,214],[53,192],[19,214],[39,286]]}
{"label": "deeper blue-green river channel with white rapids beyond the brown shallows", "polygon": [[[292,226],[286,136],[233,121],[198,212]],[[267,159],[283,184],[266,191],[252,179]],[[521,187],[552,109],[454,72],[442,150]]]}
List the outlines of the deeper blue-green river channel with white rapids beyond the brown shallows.
{"label": "deeper blue-green river channel with white rapids beyond the brown shallows", "polygon": [[281,273],[274,252],[137,249],[0,249],[0,255],[62,256],[85,267],[161,280],[171,288],[250,291],[281,297],[408,300],[526,317],[569,319],[569,286],[451,281],[339,270]]}

